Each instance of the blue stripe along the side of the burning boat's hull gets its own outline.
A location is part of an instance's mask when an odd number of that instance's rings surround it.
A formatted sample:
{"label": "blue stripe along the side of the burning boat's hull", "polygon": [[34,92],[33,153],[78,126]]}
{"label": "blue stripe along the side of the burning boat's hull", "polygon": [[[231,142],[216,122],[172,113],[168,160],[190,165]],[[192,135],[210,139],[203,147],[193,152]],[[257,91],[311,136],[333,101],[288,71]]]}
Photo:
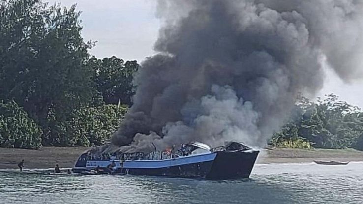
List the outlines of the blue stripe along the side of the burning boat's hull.
{"label": "blue stripe along the side of the burning boat's hull", "polygon": [[180,166],[185,164],[213,161],[216,155],[216,153],[208,153],[164,160],[126,160],[123,162],[123,168],[157,169]]}

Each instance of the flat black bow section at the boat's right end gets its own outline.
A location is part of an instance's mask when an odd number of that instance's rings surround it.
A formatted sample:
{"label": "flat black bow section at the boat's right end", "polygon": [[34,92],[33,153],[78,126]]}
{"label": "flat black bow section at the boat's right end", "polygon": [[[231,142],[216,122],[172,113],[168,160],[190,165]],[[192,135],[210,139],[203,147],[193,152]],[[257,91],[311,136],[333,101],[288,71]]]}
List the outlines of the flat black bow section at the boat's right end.
{"label": "flat black bow section at the boat's right end", "polygon": [[259,151],[220,151],[216,153],[212,168],[206,176],[206,179],[209,180],[248,178]]}

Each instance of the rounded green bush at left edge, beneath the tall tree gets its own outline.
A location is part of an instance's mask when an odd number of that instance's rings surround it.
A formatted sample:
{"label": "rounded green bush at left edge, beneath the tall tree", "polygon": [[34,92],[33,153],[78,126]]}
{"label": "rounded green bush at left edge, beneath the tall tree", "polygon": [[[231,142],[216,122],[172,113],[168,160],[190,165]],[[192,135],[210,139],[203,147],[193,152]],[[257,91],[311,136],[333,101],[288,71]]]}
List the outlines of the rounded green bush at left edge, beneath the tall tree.
{"label": "rounded green bush at left edge, beneath the tall tree", "polygon": [[42,130],[14,101],[0,101],[0,146],[38,149]]}

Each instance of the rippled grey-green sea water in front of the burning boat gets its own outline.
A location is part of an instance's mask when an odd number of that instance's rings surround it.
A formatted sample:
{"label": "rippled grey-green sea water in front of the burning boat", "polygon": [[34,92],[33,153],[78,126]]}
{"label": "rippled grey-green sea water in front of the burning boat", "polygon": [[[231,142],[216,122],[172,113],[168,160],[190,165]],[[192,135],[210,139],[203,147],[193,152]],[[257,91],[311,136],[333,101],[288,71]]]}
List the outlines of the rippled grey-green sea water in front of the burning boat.
{"label": "rippled grey-green sea water in front of the burning boat", "polygon": [[363,163],[256,165],[250,179],[0,171],[1,204],[362,204]]}

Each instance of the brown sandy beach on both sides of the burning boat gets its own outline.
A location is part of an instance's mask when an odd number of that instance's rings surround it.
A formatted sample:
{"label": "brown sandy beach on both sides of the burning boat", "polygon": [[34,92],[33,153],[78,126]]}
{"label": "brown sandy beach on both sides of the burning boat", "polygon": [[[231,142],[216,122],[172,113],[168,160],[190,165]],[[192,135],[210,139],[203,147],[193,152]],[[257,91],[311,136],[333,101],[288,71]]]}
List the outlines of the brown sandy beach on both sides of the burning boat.
{"label": "brown sandy beach on both sides of the burning boat", "polygon": [[[79,155],[90,147],[42,147],[39,150],[0,148],[0,169],[17,169],[24,159],[26,169],[74,166]],[[309,163],[314,160],[363,162],[363,151],[354,149],[287,149],[261,150],[256,164]]]}

